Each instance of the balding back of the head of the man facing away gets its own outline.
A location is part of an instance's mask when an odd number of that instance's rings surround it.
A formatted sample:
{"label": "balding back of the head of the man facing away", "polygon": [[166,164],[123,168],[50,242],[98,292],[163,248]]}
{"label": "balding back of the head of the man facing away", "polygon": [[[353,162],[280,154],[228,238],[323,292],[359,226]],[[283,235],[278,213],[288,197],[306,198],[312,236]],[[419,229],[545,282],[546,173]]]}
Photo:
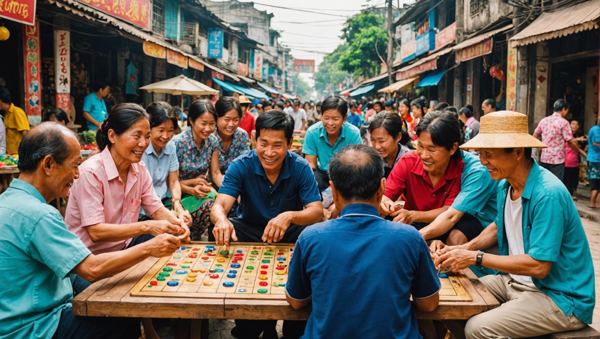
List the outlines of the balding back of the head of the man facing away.
{"label": "balding back of the head of the man facing away", "polygon": [[383,158],[367,145],[347,145],[329,160],[329,179],[346,201],[368,201],[383,178]]}

